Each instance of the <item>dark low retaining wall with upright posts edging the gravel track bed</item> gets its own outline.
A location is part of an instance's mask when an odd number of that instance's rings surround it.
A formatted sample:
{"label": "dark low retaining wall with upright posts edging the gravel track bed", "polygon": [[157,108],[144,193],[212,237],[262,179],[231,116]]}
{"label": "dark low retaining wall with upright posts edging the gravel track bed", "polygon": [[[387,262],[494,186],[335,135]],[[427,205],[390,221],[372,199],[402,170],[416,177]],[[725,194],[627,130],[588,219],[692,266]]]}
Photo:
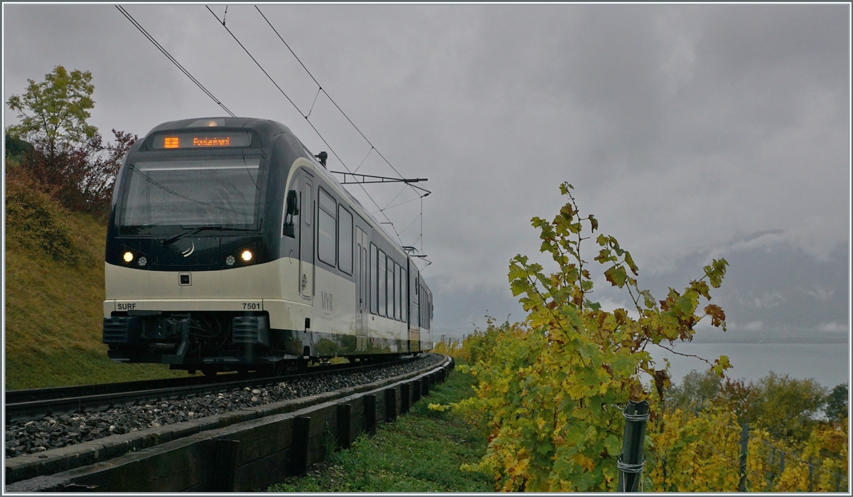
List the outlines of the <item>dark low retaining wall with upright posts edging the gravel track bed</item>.
{"label": "dark low retaining wall with upright posts edging the gravel track bed", "polygon": [[[365,365],[361,371],[391,364],[399,362]],[[437,356],[392,367],[389,376],[370,372],[380,375],[370,383],[20,455],[5,461],[4,489],[171,493],[266,488],[326,457],[326,437],[349,447],[358,433],[373,433],[378,424],[408,412],[452,367],[449,357]],[[331,372],[308,374],[328,382],[316,375]],[[216,383],[221,389],[229,382]]]}

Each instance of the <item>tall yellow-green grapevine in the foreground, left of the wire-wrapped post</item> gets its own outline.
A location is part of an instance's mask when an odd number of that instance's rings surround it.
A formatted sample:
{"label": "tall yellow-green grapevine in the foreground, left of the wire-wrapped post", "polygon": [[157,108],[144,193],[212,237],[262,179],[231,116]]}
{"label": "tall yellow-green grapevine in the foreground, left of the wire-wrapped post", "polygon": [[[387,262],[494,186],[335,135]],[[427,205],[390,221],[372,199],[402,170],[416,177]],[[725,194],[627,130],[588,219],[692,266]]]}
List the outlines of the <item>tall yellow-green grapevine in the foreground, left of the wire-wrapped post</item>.
{"label": "tall yellow-green grapevine in the foreground, left of the wire-wrapped post", "polygon": [[[728,263],[713,260],[705,275],[682,292],[671,289],[655,301],[637,285],[637,266],[614,237],[599,235],[595,260],[607,266],[606,280],[627,289],[636,317],[624,308],[612,312],[589,300],[593,281],[581,246],[598,231],[593,215],[582,217],[572,184],[560,185],[568,202],[551,222],[533,218],[541,250],[559,270],[550,275],[524,255],[509,264],[513,295],[525,308],[523,324],[496,330],[490,354],[470,366],[478,378],[476,395],[454,408],[486,420],[489,447],[469,469],[495,477],[496,488],[528,491],[607,491],[616,486],[616,459],[624,420],[615,406],[649,395],[641,372],[667,385],[665,369],[655,370],[647,345],[666,347],[689,341],[702,319],[725,330],[725,313],[711,300]],[[585,236],[589,231],[589,236]],[[714,363],[722,376],[731,367],[726,356]],[[445,408],[446,406],[432,406]]]}

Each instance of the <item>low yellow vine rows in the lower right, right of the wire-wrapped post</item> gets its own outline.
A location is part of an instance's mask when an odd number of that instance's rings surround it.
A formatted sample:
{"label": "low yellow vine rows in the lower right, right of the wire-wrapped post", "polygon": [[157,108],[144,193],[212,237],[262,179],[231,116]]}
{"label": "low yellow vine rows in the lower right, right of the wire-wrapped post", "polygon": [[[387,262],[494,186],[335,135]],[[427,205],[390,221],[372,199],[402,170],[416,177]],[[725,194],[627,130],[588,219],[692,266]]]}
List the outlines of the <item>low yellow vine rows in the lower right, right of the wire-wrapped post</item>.
{"label": "low yellow vine rows in the lower right, right of the wire-wrapped post", "polygon": [[[737,492],[743,430],[720,403],[699,412],[681,407],[653,408],[649,424],[647,486],[656,492]],[[815,424],[804,442],[776,438],[748,424],[747,492],[836,492],[847,488],[847,420]],[[783,454],[784,453],[784,454]],[[810,466],[810,467],[809,467]]]}

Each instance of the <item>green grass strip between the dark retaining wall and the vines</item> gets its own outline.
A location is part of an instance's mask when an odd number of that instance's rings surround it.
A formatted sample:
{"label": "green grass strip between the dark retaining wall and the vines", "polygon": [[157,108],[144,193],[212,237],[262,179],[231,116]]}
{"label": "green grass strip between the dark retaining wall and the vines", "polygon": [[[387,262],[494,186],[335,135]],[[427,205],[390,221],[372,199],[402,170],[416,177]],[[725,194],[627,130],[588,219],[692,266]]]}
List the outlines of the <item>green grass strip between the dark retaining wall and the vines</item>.
{"label": "green grass strip between the dark retaining wall and the vines", "polygon": [[485,438],[460,415],[431,411],[472,395],[471,375],[455,371],[445,383],[374,436],[361,435],[349,450],[332,453],[305,477],[291,477],[270,492],[492,492],[490,477],[461,471],[485,453]]}

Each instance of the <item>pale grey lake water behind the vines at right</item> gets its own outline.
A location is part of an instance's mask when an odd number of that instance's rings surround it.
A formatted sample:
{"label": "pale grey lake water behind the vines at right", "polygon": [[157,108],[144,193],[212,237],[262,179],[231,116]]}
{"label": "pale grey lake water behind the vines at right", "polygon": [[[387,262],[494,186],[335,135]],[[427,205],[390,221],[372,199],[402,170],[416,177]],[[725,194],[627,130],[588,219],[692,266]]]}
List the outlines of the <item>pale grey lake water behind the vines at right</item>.
{"label": "pale grey lake water behind the vines at right", "polygon": [[[734,366],[726,371],[733,379],[756,381],[769,371],[794,378],[815,378],[818,383],[832,389],[838,383],[847,383],[850,358],[847,343],[679,343],[674,348],[682,354],[695,354],[712,363],[721,355],[728,355]],[[708,369],[701,360],[682,357],[663,348],[647,348],[656,362],[663,365],[664,356],[670,360],[673,383],[681,383],[691,370]]]}

